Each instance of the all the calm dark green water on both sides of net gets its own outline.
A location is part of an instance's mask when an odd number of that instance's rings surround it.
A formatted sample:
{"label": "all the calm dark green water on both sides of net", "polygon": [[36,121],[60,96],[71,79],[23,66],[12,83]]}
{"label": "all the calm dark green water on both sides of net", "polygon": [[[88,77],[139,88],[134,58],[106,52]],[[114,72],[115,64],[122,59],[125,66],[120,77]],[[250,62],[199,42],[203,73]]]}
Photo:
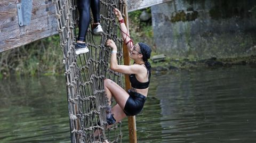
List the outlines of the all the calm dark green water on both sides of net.
{"label": "all the calm dark green water on both sides of net", "polygon": [[[256,69],[154,75],[138,142],[256,142]],[[70,142],[64,77],[0,81],[0,142]],[[127,119],[123,142],[129,142]]]}

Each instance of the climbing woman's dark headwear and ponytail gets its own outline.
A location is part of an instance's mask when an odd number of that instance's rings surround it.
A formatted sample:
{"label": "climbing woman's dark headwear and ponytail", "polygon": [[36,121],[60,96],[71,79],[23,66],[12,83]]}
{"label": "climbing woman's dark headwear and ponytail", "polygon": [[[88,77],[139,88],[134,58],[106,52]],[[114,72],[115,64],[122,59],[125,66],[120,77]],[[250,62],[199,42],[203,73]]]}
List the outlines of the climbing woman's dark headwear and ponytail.
{"label": "climbing woman's dark headwear and ponytail", "polygon": [[151,72],[151,65],[148,62],[148,59],[150,58],[150,55],[151,55],[151,48],[145,43],[138,43],[138,44],[140,46],[140,52],[143,55],[142,60],[145,62],[146,67]]}

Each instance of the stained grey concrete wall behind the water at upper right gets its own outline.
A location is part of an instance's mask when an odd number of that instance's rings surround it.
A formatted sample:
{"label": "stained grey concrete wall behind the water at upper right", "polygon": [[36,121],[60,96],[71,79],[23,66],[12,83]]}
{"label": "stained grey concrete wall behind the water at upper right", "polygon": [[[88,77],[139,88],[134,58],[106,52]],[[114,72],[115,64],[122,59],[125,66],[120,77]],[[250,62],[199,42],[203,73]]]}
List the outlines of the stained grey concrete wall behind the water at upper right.
{"label": "stained grey concrete wall behind the water at upper right", "polygon": [[157,51],[174,58],[256,55],[256,1],[176,0],[151,7]]}

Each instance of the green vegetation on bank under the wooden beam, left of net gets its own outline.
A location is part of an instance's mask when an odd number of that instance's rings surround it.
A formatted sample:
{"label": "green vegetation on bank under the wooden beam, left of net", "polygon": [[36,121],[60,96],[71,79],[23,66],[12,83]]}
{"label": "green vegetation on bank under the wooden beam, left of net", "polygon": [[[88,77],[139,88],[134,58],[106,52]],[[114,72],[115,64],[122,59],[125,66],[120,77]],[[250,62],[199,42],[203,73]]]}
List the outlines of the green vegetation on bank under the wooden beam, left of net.
{"label": "green vegetation on bank under the wooden beam, left of net", "polygon": [[59,36],[55,35],[31,44],[0,53],[0,78],[10,74],[53,75],[64,72]]}

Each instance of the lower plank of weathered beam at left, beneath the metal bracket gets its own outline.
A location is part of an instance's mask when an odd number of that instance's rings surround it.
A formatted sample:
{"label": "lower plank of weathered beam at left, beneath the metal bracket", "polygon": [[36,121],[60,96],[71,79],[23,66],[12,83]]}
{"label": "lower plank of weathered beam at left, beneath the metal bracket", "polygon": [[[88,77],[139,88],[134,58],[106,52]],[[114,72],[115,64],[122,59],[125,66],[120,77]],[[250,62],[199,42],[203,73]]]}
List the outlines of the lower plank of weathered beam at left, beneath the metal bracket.
{"label": "lower plank of weathered beam at left, beneath the metal bracket", "polygon": [[[0,52],[7,49],[19,47],[32,41],[57,34],[57,22],[55,13],[31,20],[30,26],[6,27],[1,29]],[[8,37],[4,37],[7,35]]]}

